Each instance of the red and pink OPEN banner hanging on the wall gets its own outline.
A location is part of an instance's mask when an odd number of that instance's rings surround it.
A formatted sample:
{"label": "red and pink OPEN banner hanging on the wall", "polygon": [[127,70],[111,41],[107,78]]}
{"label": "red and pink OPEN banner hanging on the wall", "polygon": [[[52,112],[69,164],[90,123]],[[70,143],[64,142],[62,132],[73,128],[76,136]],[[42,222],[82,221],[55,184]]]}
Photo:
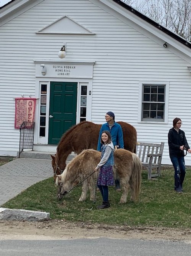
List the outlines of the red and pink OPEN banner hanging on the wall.
{"label": "red and pink OPEN banner hanging on the wall", "polygon": [[15,129],[19,129],[24,121],[33,122],[36,107],[34,98],[15,99]]}

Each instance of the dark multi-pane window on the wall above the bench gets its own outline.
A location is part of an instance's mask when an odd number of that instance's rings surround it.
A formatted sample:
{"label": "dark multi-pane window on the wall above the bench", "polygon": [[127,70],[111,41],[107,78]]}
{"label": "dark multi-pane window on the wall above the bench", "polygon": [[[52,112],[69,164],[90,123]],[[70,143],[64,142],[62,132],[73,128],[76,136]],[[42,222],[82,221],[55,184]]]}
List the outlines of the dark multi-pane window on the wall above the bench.
{"label": "dark multi-pane window on the wall above the bench", "polygon": [[165,121],[166,84],[142,84],[141,121]]}

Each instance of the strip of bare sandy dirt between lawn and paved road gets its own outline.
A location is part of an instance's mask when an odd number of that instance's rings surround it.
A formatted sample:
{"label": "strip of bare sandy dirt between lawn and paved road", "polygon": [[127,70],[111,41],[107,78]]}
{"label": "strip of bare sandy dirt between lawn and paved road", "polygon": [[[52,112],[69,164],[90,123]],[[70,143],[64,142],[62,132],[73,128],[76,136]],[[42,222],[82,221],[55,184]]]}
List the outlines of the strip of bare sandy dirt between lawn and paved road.
{"label": "strip of bare sandy dirt between lawn and paved road", "polygon": [[0,239],[45,240],[100,237],[115,239],[162,239],[191,243],[191,230],[69,223],[64,220],[45,222],[0,221]]}

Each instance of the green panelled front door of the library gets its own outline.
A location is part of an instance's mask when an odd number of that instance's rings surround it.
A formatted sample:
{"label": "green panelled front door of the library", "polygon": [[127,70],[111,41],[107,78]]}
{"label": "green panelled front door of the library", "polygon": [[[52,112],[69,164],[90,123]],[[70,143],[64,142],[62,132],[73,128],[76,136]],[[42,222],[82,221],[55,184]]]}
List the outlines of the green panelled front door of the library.
{"label": "green panelled front door of the library", "polygon": [[77,83],[50,83],[49,144],[57,145],[62,134],[76,124]]}

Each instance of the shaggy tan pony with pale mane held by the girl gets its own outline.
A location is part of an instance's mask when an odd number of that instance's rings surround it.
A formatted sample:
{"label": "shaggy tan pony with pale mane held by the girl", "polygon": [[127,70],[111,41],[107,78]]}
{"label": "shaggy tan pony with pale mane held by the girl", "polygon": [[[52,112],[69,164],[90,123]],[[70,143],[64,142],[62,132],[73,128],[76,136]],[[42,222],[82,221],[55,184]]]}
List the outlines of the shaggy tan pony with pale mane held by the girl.
{"label": "shaggy tan pony with pale mane held by the girl", "polygon": [[[94,172],[94,168],[100,161],[101,153],[94,149],[87,149],[71,160],[61,175],[56,175],[58,186],[57,197],[61,199],[71,190],[79,179],[83,180]],[[141,161],[138,156],[128,150],[118,149],[114,152],[114,173],[120,178],[122,195],[120,203],[126,203],[129,187],[131,189],[132,201],[137,201],[141,188]],[[91,175],[82,183],[82,193],[79,201],[86,200],[87,190],[90,190],[90,200],[95,200],[95,178],[97,172]]]}

